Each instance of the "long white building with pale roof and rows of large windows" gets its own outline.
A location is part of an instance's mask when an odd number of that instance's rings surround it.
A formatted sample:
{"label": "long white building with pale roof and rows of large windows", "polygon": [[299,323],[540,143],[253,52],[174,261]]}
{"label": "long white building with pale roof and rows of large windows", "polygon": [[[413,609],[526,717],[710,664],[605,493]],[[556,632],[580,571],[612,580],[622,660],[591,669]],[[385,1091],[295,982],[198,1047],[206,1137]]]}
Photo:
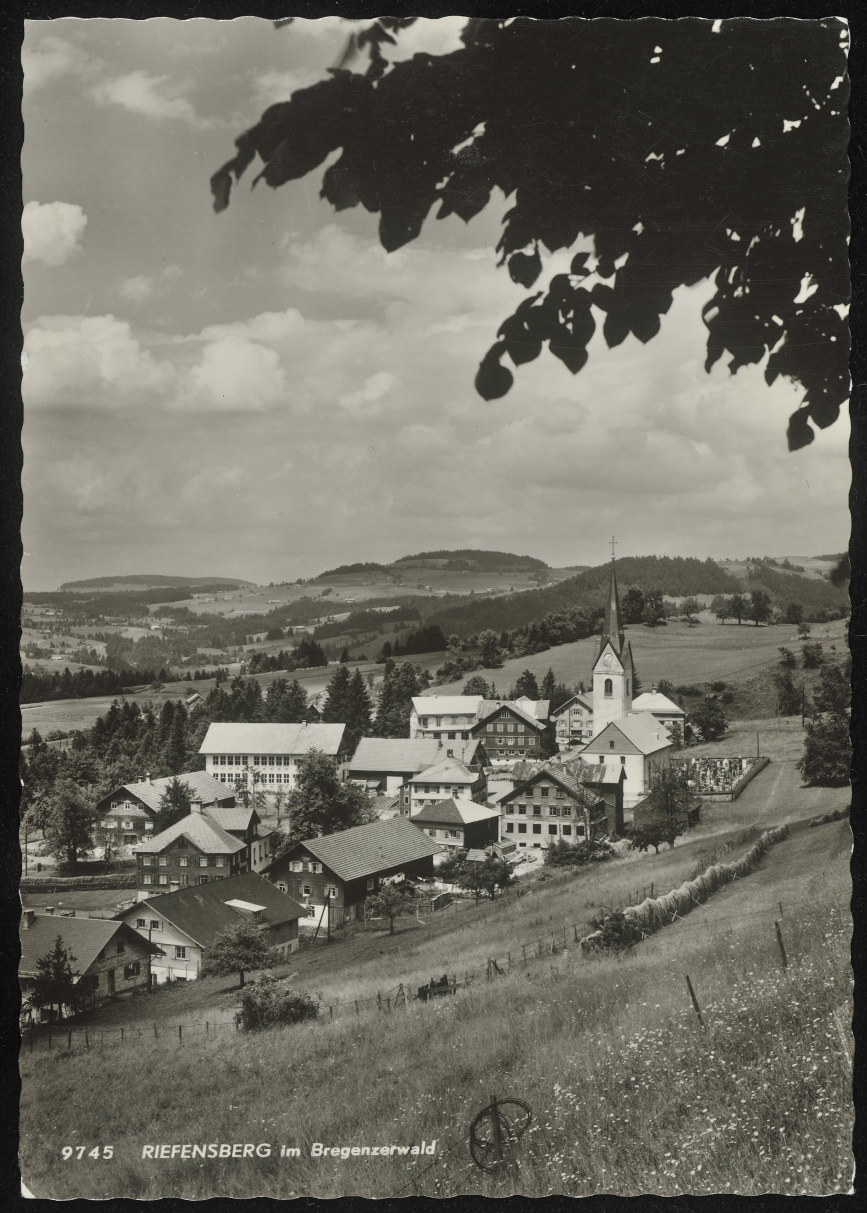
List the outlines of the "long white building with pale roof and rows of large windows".
{"label": "long white building with pale roof and rows of large windows", "polygon": [[210,724],[199,753],[222,784],[246,782],[266,792],[295,787],[301,761],[319,750],[342,762],[352,750],[346,724]]}

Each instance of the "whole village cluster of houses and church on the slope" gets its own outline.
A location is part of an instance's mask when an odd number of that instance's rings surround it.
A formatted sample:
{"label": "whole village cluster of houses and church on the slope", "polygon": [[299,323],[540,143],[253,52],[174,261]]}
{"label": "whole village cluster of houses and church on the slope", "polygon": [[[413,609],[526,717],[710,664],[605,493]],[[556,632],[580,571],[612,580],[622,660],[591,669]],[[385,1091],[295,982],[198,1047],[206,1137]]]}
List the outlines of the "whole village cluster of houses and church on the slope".
{"label": "whole village cluster of houses and church on the slope", "polygon": [[[204,724],[199,769],[114,787],[74,843],[104,871],[131,862],[135,889],[112,889],[110,877],[108,889],[98,877],[49,884],[35,865],[23,885],[22,1024],[98,1023],[107,1002],[195,980],[211,957],[234,952],[241,978],[270,972],[355,927],[393,934],[403,916],[433,922],[552,865],[658,854],[708,810],[719,820],[771,759],[758,735],[752,753],[721,741],[685,750],[689,713],[666,683],[638,690],[632,643],[612,559],[587,689],[560,688],[553,706],[487,697],[481,680],[481,694],[412,695],[407,736],[354,735],[327,693],[301,722]],[[203,705],[186,697],[193,713]],[[725,733],[707,702],[696,717],[697,740]],[[286,805],[302,788],[325,803],[293,819]]]}

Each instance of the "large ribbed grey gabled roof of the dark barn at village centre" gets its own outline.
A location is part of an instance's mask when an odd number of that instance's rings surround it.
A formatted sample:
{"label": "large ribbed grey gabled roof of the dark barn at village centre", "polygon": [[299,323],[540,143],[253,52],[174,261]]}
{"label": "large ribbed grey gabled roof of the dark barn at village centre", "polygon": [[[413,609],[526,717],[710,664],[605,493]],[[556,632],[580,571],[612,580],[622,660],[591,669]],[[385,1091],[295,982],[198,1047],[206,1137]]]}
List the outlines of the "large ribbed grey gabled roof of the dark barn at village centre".
{"label": "large ribbed grey gabled roof of the dark barn at village centre", "polygon": [[308,838],[284,852],[267,869],[283,867],[300,848],[308,850],[342,881],[355,881],[415,859],[438,855],[443,847],[416,830],[407,818],[388,818],[367,826],[353,826],[324,838]]}

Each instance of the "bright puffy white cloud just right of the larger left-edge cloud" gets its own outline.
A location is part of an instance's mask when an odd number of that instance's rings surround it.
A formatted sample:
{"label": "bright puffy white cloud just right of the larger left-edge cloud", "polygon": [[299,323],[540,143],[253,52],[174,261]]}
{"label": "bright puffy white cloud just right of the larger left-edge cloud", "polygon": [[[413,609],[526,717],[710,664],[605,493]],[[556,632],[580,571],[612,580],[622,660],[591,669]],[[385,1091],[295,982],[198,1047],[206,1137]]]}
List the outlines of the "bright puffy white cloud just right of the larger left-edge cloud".
{"label": "bright puffy white cloud just right of the larger left-edge cloud", "polygon": [[286,399],[286,372],[274,349],[226,336],[205,346],[182,378],[171,409],[195,412],[267,412]]}

